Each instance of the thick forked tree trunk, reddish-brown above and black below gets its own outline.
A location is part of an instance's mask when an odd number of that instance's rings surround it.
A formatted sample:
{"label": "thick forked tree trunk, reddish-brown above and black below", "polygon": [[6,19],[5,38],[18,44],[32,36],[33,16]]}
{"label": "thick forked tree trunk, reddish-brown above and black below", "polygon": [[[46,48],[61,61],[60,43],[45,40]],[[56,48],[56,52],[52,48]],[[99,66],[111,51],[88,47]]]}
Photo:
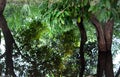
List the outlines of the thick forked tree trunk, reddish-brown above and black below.
{"label": "thick forked tree trunk, reddish-brown above and black below", "polygon": [[111,54],[114,21],[112,19],[108,20],[103,27],[94,15],[92,15],[90,19],[98,33],[97,77],[102,77],[103,74],[105,75],[105,77],[114,77]]}

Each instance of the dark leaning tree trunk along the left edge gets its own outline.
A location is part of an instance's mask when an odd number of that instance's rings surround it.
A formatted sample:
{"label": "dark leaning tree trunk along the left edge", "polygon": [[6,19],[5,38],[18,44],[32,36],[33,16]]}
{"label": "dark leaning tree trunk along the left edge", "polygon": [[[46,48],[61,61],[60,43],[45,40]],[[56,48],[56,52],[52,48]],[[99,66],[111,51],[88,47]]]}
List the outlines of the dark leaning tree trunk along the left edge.
{"label": "dark leaning tree trunk along the left edge", "polygon": [[2,29],[4,39],[5,39],[5,63],[6,63],[6,76],[16,77],[14,73],[12,52],[14,39],[7,26],[7,22],[3,16],[3,11],[6,5],[6,0],[0,0],[0,28]]}

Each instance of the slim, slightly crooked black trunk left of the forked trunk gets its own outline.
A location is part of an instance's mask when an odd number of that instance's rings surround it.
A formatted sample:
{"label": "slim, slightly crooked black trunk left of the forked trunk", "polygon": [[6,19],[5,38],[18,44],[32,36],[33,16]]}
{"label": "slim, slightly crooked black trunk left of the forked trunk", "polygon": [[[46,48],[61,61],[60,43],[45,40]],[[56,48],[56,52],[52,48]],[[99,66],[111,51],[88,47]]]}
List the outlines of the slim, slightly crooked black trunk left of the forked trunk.
{"label": "slim, slightly crooked black trunk left of the forked trunk", "polygon": [[87,35],[86,35],[86,31],[83,25],[83,18],[81,18],[81,22],[77,23],[78,28],[80,30],[80,35],[81,35],[81,41],[80,41],[80,51],[79,51],[79,57],[78,59],[80,60],[80,73],[79,73],[79,77],[83,77],[84,74],[84,70],[85,70],[85,58],[84,58],[84,45],[85,42],[87,41]]}

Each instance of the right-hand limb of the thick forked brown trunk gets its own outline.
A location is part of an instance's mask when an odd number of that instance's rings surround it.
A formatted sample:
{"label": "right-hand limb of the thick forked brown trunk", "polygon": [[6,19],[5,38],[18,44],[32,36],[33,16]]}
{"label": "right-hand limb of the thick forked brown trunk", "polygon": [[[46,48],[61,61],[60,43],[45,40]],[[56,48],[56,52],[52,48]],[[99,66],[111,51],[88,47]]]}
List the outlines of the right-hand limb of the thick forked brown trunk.
{"label": "right-hand limb of the thick forked brown trunk", "polygon": [[106,58],[105,58],[106,59],[106,63],[105,63],[106,77],[114,77],[112,54],[111,54],[113,25],[114,25],[114,20],[109,19],[104,27],[104,36],[105,36],[106,49],[107,49]]}

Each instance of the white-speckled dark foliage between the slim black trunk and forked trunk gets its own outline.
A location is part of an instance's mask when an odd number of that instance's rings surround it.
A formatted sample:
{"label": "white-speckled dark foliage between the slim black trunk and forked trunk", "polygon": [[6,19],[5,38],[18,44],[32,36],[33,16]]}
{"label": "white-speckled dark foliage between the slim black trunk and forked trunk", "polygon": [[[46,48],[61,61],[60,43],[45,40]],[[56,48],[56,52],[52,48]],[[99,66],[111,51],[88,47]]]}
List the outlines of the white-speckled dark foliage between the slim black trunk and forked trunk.
{"label": "white-speckled dark foliage between the slim black trunk and forked trunk", "polygon": [[85,45],[85,60],[86,60],[86,70],[85,75],[92,75],[96,74],[97,70],[97,43],[95,42],[88,42]]}

